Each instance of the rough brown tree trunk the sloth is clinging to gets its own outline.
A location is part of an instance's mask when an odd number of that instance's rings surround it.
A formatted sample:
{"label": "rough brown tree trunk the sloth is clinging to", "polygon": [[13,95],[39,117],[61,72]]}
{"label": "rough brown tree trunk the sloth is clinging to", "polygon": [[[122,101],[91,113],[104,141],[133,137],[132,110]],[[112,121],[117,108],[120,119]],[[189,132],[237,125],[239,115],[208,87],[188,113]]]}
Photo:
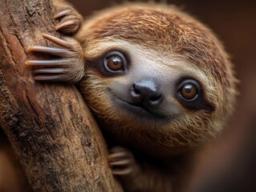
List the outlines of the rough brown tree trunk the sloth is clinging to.
{"label": "rough brown tree trunk the sloth is clinging to", "polygon": [[35,191],[122,191],[104,138],[75,86],[35,82],[28,46],[59,36],[49,0],[0,0],[0,126]]}

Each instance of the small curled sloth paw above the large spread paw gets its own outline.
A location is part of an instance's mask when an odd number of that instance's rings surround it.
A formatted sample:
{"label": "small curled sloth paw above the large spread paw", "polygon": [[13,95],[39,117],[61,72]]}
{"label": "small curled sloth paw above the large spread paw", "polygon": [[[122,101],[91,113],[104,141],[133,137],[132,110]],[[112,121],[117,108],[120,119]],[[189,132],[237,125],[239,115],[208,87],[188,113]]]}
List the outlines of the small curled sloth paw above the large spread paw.
{"label": "small curled sloth paw above the large spread paw", "polygon": [[57,10],[54,18],[59,21],[55,30],[63,34],[75,34],[83,22],[82,16],[70,6]]}

